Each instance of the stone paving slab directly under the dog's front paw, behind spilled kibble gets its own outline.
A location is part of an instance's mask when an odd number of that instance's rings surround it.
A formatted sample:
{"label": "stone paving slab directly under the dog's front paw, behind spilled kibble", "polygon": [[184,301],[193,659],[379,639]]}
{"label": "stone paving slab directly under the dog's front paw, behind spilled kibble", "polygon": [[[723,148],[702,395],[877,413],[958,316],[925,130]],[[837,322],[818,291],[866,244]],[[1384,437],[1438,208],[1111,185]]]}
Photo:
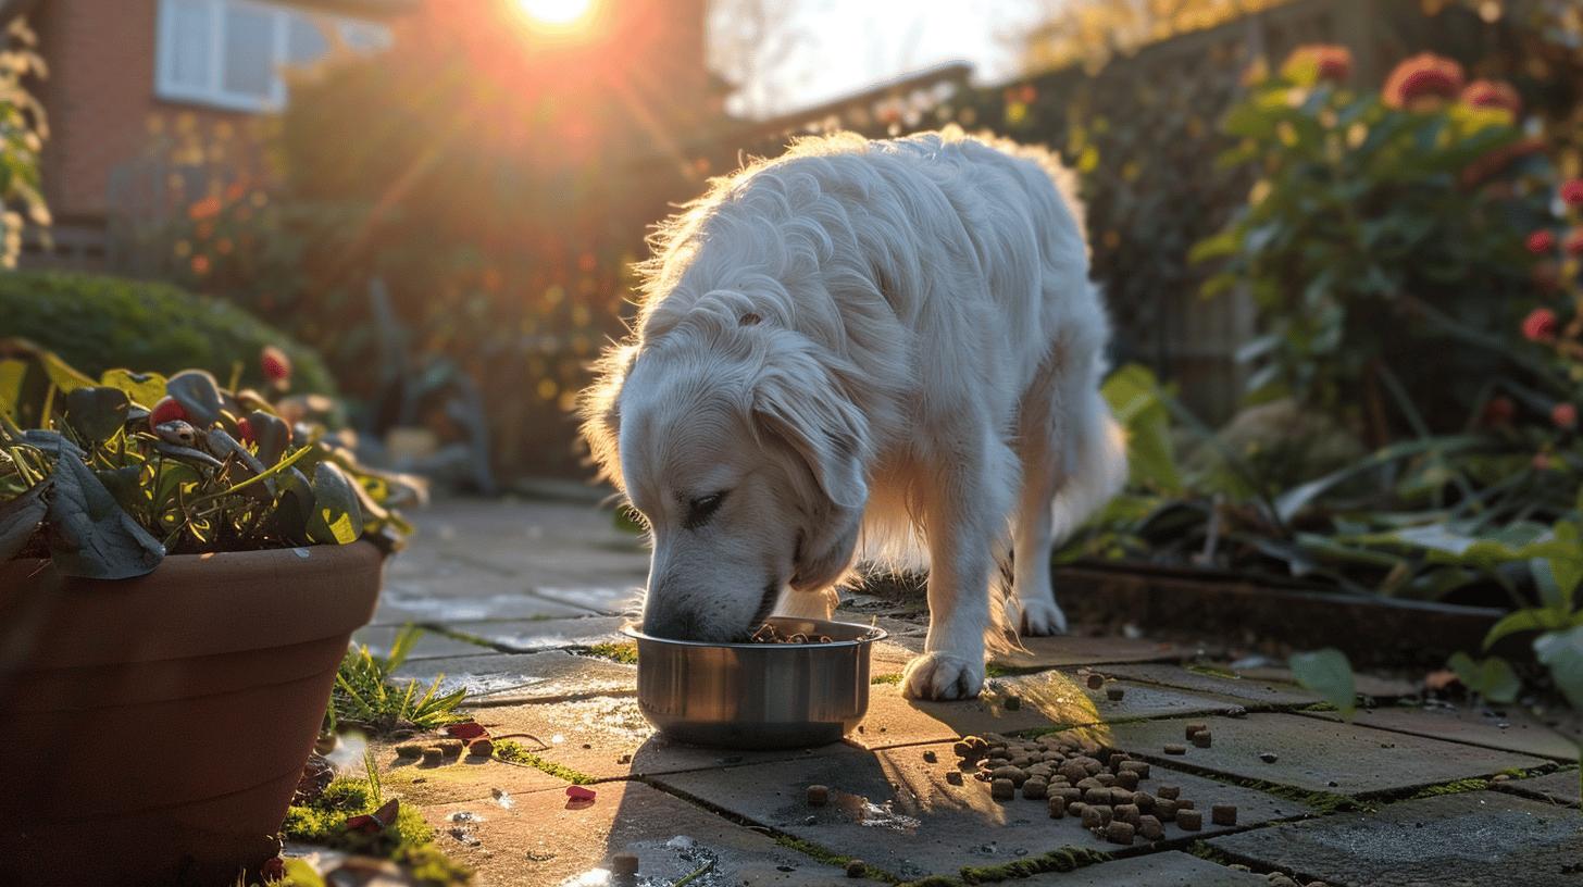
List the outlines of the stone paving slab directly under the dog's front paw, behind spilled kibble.
{"label": "stone paving slab directly under the dog's front paw, behind spilled kibble", "polygon": [[[969,702],[920,702],[904,699],[898,686],[875,686],[861,732],[847,741],[863,748],[955,741],[967,733],[1016,733],[1048,727],[1083,727],[1116,719],[1208,714],[1241,710],[1233,699],[1208,697],[1122,683],[1119,702],[1105,691],[1091,691],[1072,672],[1040,672],[993,678],[991,689]],[[1008,700],[1016,697],[1016,708]]]}

